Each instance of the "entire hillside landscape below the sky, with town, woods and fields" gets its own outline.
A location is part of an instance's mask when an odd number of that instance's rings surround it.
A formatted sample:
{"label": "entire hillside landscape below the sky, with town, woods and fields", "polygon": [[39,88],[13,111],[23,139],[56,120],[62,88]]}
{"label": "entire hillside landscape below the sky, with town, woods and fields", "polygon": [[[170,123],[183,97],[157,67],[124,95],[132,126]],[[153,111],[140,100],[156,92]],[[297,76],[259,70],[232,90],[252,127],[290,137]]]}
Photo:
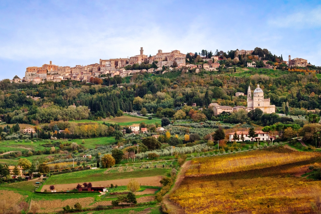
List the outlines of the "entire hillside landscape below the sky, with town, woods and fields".
{"label": "entire hillside landscape below the sky, with town, woods and fields", "polygon": [[258,47],[28,67],[0,81],[0,214],[314,213],[320,72]]}

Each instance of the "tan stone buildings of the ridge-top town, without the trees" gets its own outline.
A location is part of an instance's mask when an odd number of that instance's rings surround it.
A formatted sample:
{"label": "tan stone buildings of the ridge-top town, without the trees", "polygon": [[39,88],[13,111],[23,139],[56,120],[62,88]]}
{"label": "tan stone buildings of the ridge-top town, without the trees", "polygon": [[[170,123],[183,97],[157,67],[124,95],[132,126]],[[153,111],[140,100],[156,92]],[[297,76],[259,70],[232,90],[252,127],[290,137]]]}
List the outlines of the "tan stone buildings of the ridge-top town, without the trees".
{"label": "tan stone buildings of the ridge-top town, without the trees", "polygon": [[[252,54],[254,50],[237,50],[237,55],[242,54]],[[158,70],[162,70],[163,66],[173,67],[174,64],[177,64],[177,69],[205,69],[208,71],[215,71],[220,67],[218,63],[219,56],[212,56],[211,58],[201,57],[204,64],[188,64],[186,63],[186,55],[181,53],[179,50],[173,50],[170,52],[163,52],[158,50],[156,55],[147,56],[143,54],[143,47],[140,48],[140,54],[136,56],[131,56],[127,58],[115,58],[115,59],[100,59],[99,64],[89,64],[89,65],[75,65],[74,67],[70,66],[58,66],[52,64],[52,61],[49,64],[43,64],[41,67],[27,67],[25,77],[20,79],[15,76],[12,82],[30,82],[40,83],[44,81],[62,81],[62,80],[75,80],[75,81],[87,81],[89,82],[91,78],[100,78],[104,79],[107,76],[121,76],[126,77],[138,72],[149,72],[153,73]],[[189,53],[189,56],[194,56],[195,54]],[[264,60],[263,63],[266,67],[270,65],[266,64],[268,61]],[[285,61],[286,62],[286,61]],[[127,65],[133,64],[156,64],[157,69],[151,68],[149,70],[125,70],[124,67]],[[286,62],[287,63],[287,62]],[[308,65],[307,60],[301,58],[295,58],[291,60],[289,55],[289,66],[300,66],[305,67]],[[247,63],[248,67],[256,67],[254,61]],[[271,66],[270,66],[271,67]],[[172,70],[173,68],[169,68]],[[35,98],[37,99],[37,98]]]}

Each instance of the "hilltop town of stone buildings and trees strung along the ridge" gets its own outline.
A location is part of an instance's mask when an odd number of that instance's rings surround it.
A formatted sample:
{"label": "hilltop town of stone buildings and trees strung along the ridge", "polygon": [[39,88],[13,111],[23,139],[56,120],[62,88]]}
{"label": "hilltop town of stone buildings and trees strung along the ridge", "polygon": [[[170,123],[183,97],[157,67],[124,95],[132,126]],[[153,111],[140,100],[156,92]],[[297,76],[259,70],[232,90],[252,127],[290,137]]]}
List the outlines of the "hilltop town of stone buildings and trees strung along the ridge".
{"label": "hilltop town of stone buildings and trees strung along the ridge", "polygon": [[[154,73],[156,71],[167,72],[173,69],[204,69],[207,71],[217,71],[222,67],[241,66],[241,67],[264,67],[264,68],[285,68],[293,67],[306,68],[308,60],[294,58],[284,61],[282,56],[273,56],[266,49],[256,48],[255,50],[236,50],[224,53],[223,51],[202,50],[202,53],[180,53],[179,50],[171,52],[162,52],[158,50],[156,55],[144,55],[143,47],[140,48],[140,54],[129,58],[100,59],[99,64],[58,66],[52,64],[43,64],[41,67],[27,67],[25,76],[19,78],[15,76],[13,82],[44,82],[44,81],[62,81],[75,80],[92,82],[93,78],[105,79],[107,77],[126,77],[135,73]],[[198,56],[198,58],[197,58]],[[142,65],[143,66],[140,66]],[[165,68],[168,70],[165,71]]]}

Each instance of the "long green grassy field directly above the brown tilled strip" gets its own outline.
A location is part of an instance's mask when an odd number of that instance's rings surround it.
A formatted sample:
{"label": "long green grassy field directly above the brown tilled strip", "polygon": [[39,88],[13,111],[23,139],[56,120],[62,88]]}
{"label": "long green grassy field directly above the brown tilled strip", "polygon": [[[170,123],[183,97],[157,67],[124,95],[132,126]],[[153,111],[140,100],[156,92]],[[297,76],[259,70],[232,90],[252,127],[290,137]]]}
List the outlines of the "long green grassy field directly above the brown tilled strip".
{"label": "long green grassy field directly above the brown tilled strip", "polygon": [[106,169],[91,169],[79,172],[72,172],[60,175],[51,176],[46,184],[72,184],[93,181],[106,181],[116,179],[126,179],[135,177],[151,177],[158,175],[166,175],[170,169],[156,168],[156,169],[140,169],[132,172],[115,172],[104,173]]}

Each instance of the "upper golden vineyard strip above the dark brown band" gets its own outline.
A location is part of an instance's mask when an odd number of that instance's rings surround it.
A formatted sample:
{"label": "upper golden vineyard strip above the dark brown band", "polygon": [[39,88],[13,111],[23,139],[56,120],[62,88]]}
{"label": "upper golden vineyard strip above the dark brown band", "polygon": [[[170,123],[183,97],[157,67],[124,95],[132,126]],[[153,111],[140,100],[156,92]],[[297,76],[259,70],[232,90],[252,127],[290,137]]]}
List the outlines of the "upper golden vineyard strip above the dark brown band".
{"label": "upper golden vineyard strip above the dark brown band", "polygon": [[186,176],[215,175],[275,167],[311,158],[321,157],[319,153],[292,151],[284,148],[249,151],[233,155],[200,158],[192,160]]}

